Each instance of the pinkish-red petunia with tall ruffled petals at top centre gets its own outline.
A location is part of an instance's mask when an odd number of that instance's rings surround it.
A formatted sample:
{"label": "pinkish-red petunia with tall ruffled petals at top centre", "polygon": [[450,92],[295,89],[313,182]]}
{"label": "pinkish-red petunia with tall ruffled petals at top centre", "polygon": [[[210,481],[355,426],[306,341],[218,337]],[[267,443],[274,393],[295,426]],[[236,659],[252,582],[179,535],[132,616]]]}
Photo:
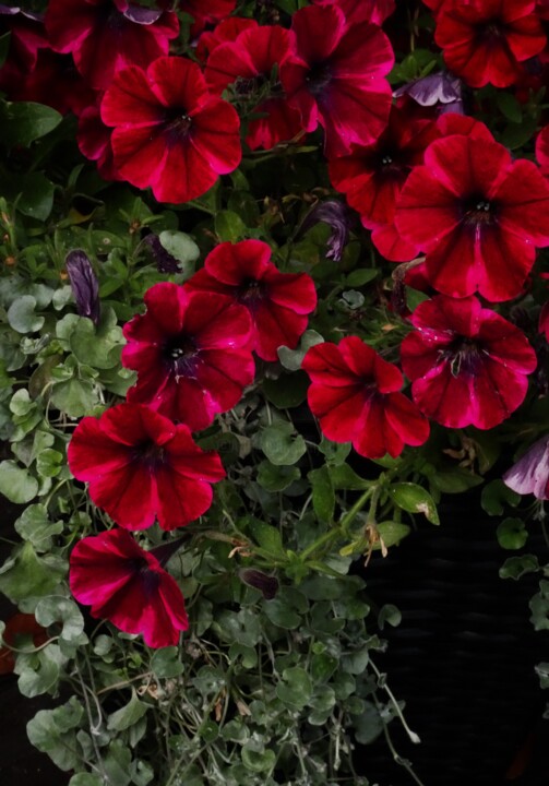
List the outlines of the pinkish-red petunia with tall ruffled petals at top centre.
{"label": "pinkish-red petunia with tall ruffled petals at top centre", "polygon": [[296,55],[281,67],[281,82],[299,109],[306,131],[320,123],[326,155],[372,144],[387,123],[394,62],[385,34],[369,22],[349,25],[336,5],[310,5],[294,14]]}

